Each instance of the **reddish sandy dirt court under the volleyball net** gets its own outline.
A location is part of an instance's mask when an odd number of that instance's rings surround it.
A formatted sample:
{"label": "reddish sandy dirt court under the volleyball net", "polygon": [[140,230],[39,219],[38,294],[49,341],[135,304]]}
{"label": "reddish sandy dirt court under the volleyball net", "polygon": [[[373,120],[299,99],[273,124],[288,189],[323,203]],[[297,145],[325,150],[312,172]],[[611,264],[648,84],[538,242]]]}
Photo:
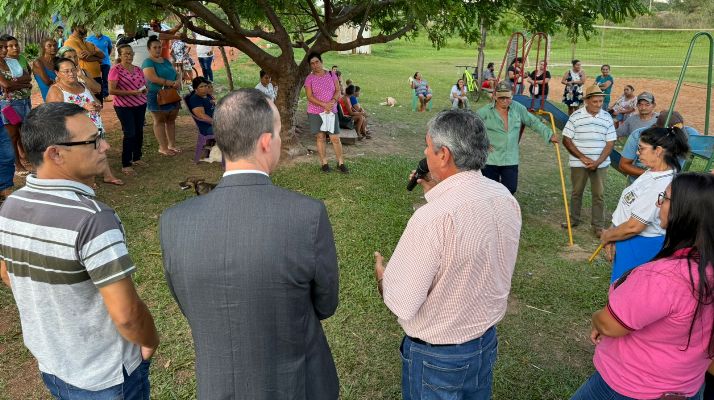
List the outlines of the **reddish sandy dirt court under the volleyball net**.
{"label": "reddish sandy dirt court under the volleyball net", "polygon": [[[644,91],[654,94],[655,101],[657,102],[657,111],[669,109],[669,105],[672,103],[674,90],[677,88],[676,81],[616,78],[615,85],[612,88],[610,104],[614,103],[615,100],[622,95],[622,90],[625,85],[634,86],[635,93],[637,94]],[[675,110],[679,111],[684,117],[685,124],[696,128],[702,134],[704,134],[704,116],[707,108],[706,99],[706,85],[684,82],[679,91],[679,96],[677,97],[677,103],[675,106]],[[714,104],[709,112],[711,115],[709,119],[709,132],[714,134]]]}

